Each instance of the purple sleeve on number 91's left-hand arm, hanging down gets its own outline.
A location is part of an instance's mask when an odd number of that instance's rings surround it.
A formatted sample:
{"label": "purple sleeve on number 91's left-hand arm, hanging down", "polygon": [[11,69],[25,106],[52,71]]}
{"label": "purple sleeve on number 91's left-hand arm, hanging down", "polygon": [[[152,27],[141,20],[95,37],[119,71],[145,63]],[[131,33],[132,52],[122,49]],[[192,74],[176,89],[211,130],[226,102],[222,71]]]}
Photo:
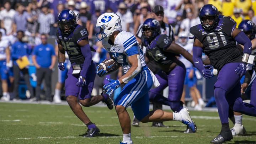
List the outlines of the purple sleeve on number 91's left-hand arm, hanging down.
{"label": "purple sleeve on number 91's left-hand arm, hanging down", "polygon": [[202,73],[204,66],[202,62],[202,47],[193,46],[193,62],[194,66]]}

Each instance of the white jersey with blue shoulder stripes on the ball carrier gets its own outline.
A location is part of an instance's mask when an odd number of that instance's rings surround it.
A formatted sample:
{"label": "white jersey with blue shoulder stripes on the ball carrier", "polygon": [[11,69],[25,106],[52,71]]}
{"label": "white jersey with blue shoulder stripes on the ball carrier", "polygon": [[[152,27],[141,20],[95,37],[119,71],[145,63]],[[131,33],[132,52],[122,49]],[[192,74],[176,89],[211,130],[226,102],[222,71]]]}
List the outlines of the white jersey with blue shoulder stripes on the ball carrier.
{"label": "white jersey with blue shoulder stripes on the ball carrier", "polygon": [[129,49],[134,45],[137,46],[142,66],[146,65],[142,49],[140,49],[139,43],[137,42],[135,36],[130,32],[119,32],[115,38],[113,46],[105,39],[102,39],[102,45],[108,51],[108,53],[116,59],[119,65],[122,66],[124,73],[130,69],[131,65],[128,63],[127,52],[129,52]]}

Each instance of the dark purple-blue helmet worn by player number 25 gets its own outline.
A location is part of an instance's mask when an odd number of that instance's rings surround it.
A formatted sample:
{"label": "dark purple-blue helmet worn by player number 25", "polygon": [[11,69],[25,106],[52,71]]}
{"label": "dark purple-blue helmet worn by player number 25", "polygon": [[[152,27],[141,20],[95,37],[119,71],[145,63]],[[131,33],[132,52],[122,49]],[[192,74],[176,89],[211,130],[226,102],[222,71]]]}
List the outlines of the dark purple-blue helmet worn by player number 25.
{"label": "dark purple-blue helmet worn by player number 25", "polygon": [[69,34],[75,30],[76,15],[72,10],[63,10],[59,13],[57,19],[62,34]]}

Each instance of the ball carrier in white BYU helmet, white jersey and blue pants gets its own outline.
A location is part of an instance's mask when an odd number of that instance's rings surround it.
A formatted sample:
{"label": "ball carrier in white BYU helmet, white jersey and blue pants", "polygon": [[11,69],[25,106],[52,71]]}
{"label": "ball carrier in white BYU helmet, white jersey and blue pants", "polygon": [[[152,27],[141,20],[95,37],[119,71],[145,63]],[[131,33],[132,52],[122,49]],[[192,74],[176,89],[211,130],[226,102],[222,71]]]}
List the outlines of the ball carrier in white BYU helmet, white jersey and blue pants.
{"label": "ball carrier in white BYU helmet, white jersey and blue pants", "polygon": [[[194,126],[186,109],[182,109],[178,113],[162,110],[149,111],[148,91],[153,85],[159,86],[159,83],[146,66],[144,54],[135,36],[130,32],[122,31],[121,20],[117,14],[113,12],[102,14],[98,17],[95,28],[100,28],[100,32],[96,34],[98,40],[102,42],[111,58],[122,67],[124,73],[117,80],[108,79],[110,82],[103,86],[106,94],[111,95],[120,85],[124,85],[121,93],[114,101],[123,131],[123,140],[120,144],[133,143],[130,132],[130,117],[126,111],[128,106],[132,107],[135,117],[143,123],[174,120],[182,121],[189,127]],[[106,74],[98,66],[96,71],[99,76]]]}

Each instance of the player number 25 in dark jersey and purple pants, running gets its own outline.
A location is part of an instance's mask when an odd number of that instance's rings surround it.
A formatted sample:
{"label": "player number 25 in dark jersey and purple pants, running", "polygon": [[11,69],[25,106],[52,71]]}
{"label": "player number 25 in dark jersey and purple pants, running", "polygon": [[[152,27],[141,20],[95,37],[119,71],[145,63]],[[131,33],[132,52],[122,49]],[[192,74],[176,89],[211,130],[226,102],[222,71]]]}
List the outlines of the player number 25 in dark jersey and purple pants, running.
{"label": "player number 25 in dark jersey and purple pants, running", "polygon": [[[105,94],[91,96],[95,79],[95,64],[92,62],[88,31],[76,23],[76,15],[71,10],[63,10],[58,15],[57,43],[58,68],[65,70],[65,51],[71,67],[65,80],[65,95],[71,110],[88,127],[84,137],[94,137],[100,130],[86,116],[82,106],[89,107],[102,101],[113,109],[113,101]],[[79,99],[79,102],[77,101]],[[80,104],[79,104],[80,103]]]}

